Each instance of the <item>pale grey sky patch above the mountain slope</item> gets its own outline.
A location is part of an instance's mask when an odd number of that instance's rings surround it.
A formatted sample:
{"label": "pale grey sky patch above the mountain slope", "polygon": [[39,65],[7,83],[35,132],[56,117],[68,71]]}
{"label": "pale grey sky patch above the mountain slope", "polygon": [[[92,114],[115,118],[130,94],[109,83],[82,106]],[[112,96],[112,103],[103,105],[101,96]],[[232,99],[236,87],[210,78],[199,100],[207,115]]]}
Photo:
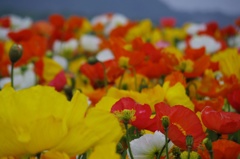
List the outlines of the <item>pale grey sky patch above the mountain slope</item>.
{"label": "pale grey sky patch above the mountain slope", "polygon": [[170,8],[186,12],[220,11],[240,16],[240,0],[159,0]]}

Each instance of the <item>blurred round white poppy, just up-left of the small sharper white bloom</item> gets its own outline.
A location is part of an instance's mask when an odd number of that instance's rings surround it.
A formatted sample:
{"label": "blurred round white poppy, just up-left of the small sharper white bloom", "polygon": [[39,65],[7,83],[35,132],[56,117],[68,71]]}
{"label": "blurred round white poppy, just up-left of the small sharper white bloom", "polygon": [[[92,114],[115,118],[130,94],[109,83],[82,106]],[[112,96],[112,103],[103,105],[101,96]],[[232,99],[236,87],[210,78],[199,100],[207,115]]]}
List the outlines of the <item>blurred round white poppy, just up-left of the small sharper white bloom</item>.
{"label": "blurred round white poppy, just up-left of the small sharper white bloom", "polygon": [[83,35],[80,38],[80,45],[85,51],[96,52],[99,50],[101,39],[95,35]]}

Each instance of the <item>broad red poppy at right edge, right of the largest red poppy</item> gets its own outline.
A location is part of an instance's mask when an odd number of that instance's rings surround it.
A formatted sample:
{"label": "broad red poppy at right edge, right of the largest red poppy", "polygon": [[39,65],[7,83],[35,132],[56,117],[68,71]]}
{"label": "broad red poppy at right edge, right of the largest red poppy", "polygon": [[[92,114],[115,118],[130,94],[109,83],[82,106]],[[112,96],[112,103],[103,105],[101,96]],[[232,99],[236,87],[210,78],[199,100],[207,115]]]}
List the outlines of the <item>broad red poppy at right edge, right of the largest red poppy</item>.
{"label": "broad red poppy at right edge, right of the largest red poppy", "polygon": [[240,115],[232,112],[215,111],[206,106],[202,110],[202,122],[210,130],[221,134],[231,134],[240,130]]}

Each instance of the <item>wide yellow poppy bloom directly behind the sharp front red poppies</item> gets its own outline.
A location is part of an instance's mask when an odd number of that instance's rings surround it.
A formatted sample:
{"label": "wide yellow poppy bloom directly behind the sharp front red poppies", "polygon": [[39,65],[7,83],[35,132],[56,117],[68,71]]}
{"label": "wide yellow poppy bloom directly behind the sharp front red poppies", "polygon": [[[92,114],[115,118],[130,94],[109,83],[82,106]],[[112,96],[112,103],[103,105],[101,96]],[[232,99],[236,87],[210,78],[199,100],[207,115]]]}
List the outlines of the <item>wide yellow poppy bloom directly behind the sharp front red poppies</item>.
{"label": "wide yellow poppy bloom directly behind the sharp front red poppies", "polygon": [[173,86],[170,86],[169,82],[165,82],[163,87],[156,85],[153,88],[145,88],[142,92],[119,90],[111,87],[106,96],[96,104],[96,107],[110,111],[112,105],[122,97],[130,97],[139,104],[148,104],[153,112],[155,111],[154,105],[162,101],[167,102],[171,106],[183,105],[194,110],[194,105],[180,82]]}

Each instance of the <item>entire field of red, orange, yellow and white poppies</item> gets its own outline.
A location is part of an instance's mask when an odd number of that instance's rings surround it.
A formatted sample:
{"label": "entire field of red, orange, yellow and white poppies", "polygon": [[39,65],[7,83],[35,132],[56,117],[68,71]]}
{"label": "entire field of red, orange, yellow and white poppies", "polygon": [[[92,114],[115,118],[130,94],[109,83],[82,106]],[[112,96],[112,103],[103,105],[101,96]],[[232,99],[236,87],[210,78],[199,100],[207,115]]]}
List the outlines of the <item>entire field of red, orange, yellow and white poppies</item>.
{"label": "entire field of red, orange, yellow and white poppies", "polygon": [[240,18],[0,17],[0,159],[239,159]]}

